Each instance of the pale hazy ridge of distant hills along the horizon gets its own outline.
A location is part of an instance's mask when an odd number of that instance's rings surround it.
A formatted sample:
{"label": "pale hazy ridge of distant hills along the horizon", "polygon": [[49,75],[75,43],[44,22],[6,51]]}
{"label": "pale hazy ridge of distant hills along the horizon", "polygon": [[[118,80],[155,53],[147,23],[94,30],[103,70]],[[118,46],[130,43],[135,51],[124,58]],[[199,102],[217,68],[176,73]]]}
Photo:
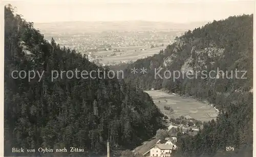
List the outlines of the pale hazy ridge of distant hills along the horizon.
{"label": "pale hazy ridge of distant hills along the horizon", "polygon": [[186,31],[201,27],[207,21],[172,23],[155,21],[67,21],[34,23],[42,32],[102,32],[102,31]]}

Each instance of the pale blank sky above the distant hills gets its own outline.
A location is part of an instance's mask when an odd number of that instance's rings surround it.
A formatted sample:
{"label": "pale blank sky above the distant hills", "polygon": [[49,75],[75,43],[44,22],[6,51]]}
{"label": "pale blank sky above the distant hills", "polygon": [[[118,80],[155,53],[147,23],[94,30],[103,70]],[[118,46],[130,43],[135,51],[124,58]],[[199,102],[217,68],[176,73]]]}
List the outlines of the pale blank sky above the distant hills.
{"label": "pale blank sky above the distant hills", "polygon": [[[189,3],[190,2],[190,3]],[[254,1],[25,0],[9,1],[27,21],[148,20],[195,22],[254,13]]]}

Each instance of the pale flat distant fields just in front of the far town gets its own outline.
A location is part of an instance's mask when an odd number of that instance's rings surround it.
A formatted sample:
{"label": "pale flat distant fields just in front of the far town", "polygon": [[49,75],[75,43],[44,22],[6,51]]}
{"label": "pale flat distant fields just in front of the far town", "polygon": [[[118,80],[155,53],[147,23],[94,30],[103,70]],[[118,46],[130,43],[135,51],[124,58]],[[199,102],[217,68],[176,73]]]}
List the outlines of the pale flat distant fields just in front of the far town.
{"label": "pale flat distant fields just in front of the far town", "polygon": [[[119,48],[124,51],[120,52],[113,52],[111,51],[99,51],[95,53],[96,56],[102,56],[102,61],[100,63],[103,64],[108,64],[115,62],[115,63],[120,63],[120,62],[129,62],[129,61],[136,61],[139,58],[146,57],[146,56],[153,56],[154,54],[158,54],[161,49],[165,49],[165,46],[159,46],[159,47],[142,47],[142,46],[129,46],[129,47],[113,47],[113,48]],[[145,49],[145,50],[140,50],[140,49]],[[116,54],[116,56],[108,56],[112,54]]]}

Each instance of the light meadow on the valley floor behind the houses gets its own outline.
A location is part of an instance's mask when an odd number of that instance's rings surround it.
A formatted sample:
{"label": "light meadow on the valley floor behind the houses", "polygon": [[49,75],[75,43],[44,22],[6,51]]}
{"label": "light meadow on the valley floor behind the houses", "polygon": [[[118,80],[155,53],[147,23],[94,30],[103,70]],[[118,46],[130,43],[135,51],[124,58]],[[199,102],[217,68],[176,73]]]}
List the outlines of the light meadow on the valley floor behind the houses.
{"label": "light meadow on the valley floor behind the houses", "polygon": [[[215,119],[218,115],[218,112],[209,104],[197,101],[194,98],[168,94],[161,90],[145,92],[153,98],[154,103],[159,107],[161,112],[169,118],[178,118],[180,116],[188,115],[203,122]],[[167,100],[167,102],[165,100]],[[170,113],[169,111],[164,110],[164,106],[171,106],[174,112]]]}

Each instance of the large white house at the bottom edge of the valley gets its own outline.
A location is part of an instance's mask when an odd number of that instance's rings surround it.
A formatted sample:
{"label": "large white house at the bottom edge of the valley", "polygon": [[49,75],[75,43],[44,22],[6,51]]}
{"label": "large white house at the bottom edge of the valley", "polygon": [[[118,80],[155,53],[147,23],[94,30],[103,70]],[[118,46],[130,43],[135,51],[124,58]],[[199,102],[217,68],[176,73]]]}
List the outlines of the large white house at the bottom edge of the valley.
{"label": "large white house at the bottom edge of the valley", "polygon": [[170,157],[170,154],[175,150],[173,144],[155,144],[150,150],[145,152],[143,156],[161,156],[161,157]]}

